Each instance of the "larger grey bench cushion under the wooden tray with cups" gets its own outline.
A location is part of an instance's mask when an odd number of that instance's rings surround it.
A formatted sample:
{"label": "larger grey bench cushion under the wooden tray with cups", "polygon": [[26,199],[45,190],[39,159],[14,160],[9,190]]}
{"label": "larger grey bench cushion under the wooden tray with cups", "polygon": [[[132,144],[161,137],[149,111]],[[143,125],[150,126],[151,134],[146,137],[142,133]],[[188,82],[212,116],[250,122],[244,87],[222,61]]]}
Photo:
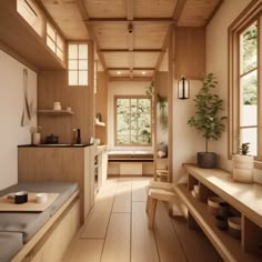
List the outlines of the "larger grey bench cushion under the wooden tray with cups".
{"label": "larger grey bench cushion under the wooden tray with cups", "polygon": [[0,232],[21,232],[28,242],[77,190],[74,182],[27,182],[0,191],[0,196],[18,191],[60,193],[44,212],[0,212]]}

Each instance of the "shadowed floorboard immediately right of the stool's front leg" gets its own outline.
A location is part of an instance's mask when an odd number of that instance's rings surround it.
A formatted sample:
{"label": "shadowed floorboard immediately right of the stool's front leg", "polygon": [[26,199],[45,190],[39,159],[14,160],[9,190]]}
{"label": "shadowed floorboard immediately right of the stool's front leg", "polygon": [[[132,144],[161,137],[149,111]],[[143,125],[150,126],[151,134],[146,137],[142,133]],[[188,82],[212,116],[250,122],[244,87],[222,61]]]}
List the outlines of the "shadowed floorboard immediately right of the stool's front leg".
{"label": "shadowed floorboard immediately right of the stool's front leg", "polygon": [[161,202],[158,203],[154,234],[161,262],[185,262],[187,258]]}

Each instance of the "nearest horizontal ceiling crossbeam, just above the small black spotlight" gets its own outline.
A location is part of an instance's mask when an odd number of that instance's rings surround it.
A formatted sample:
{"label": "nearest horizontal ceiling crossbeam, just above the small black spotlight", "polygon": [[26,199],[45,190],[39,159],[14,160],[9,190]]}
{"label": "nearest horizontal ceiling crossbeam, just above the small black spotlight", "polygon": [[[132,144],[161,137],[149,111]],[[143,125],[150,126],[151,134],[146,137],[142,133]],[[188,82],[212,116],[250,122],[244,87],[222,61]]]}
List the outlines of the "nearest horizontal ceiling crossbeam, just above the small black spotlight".
{"label": "nearest horizontal ceiling crossbeam, just above the small black spotlight", "polygon": [[[90,18],[89,20],[83,20],[87,24],[129,24],[130,21],[127,18]],[[170,18],[135,18],[132,20],[133,24],[142,23],[174,23],[175,21]]]}

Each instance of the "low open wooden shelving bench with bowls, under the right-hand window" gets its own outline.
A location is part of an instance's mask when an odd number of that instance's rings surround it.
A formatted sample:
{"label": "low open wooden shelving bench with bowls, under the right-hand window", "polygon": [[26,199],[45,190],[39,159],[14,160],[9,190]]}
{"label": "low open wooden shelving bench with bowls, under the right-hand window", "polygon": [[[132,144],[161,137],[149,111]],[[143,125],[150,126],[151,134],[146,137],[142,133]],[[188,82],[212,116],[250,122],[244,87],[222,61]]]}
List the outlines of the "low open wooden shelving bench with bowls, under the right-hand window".
{"label": "low open wooden shelving bench with bowls, under the right-hand window", "polygon": [[[189,225],[196,223],[224,261],[262,261],[262,187],[240,184],[223,170],[203,170],[193,164],[184,164],[189,173],[188,184],[174,187],[175,193],[189,210]],[[199,184],[199,198],[191,190]],[[219,195],[241,213],[241,240],[215,225],[215,216],[208,211],[206,200]],[[192,222],[193,221],[193,222]]]}

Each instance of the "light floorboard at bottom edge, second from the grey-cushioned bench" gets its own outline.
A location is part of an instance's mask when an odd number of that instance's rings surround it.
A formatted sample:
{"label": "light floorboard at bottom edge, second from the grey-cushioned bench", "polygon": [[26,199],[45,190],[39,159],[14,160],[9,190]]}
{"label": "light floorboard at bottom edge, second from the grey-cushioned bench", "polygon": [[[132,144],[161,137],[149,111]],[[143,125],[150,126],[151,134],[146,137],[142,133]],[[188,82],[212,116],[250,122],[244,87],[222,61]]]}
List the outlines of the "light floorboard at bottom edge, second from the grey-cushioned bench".
{"label": "light floorboard at bottom edge, second from the grey-cushioned bench", "polygon": [[111,214],[101,261],[130,261],[130,213]]}

